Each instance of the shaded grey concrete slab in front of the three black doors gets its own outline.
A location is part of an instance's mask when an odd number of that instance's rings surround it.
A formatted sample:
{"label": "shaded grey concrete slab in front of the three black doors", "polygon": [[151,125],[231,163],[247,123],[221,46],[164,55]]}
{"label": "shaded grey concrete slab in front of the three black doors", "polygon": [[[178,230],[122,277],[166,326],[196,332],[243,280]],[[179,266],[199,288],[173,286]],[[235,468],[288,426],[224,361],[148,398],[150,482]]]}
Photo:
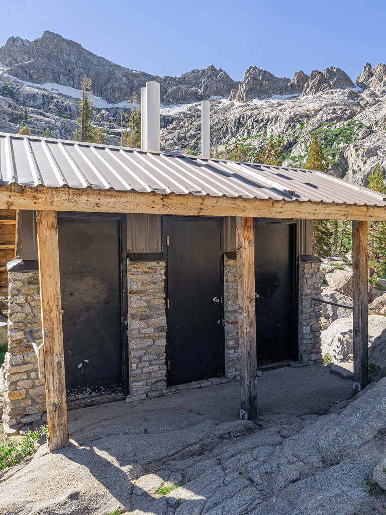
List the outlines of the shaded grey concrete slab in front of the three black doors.
{"label": "shaded grey concrete slab in front of the three black doors", "polygon": [[[352,381],[327,367],[286,367],[258,378],[258,416],[263,427],[302,415],[321,415],[331,405],[354,396]],[[160,435],[211,420],[238,420],[240,384],[232,382],[173,395],[115,402],[68,412],[68,430],[78,444],[105,436]],[[156,438],[154,446],[156,446]]]}

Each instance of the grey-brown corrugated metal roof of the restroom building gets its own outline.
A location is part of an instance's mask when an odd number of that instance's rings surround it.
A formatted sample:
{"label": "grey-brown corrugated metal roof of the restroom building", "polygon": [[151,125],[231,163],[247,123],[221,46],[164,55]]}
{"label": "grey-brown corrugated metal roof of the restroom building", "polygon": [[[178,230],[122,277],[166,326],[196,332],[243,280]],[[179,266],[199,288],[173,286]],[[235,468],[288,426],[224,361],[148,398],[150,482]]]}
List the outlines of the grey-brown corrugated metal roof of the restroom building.
{"label": "grey-brown corrugated metal roof of the restroom building", "polygon": [[12,183],[386,206],[320,171],[0,133],[0,186]]}

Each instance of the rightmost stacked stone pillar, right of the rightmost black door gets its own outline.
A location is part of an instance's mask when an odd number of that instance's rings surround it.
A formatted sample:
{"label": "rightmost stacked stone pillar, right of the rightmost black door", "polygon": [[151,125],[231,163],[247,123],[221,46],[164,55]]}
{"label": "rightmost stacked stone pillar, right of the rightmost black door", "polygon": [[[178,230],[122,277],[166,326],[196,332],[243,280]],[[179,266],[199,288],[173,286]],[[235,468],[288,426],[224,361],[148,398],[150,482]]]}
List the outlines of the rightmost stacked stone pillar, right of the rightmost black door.
{"label": "rightmost stacked stone pillar, right of the rightmost black door", "polygon": [[299,260],[299,360],[305,365],[322,366],[322,305],[312,300],[322,293],[321,263],[320,259],[309,255],[302,255]]}

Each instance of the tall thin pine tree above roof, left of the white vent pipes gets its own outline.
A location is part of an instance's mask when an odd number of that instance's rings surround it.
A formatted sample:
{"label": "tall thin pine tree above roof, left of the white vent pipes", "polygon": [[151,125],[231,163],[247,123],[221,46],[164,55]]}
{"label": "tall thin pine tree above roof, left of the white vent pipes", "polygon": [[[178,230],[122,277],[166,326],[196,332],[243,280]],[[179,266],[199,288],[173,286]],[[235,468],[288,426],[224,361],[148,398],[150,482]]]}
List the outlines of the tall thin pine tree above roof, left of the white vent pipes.
{"label": "tall thin pine tree above roof, left of the white vent pipes", "polygon": [[82,87],[82,98],[78,104],[80,116],[77,120],[80,123],[80,129],[75,131],[75,141],[105,143],[107,134],[104,134],[99,127],[94,127],[91,124],[93,115],[92,80],[90,77],[83,75],[80,84]]}

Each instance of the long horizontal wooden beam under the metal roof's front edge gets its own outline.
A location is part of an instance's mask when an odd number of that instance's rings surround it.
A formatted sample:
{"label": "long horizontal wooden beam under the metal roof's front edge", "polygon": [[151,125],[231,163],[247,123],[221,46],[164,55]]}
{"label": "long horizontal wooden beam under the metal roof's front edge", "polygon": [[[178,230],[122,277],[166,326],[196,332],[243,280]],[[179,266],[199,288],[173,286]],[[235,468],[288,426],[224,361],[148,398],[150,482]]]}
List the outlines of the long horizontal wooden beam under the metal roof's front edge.
{"label": "long horizontal wooden beam under the metal roof's front edge", "polygon": [[17,184],[0,188],[0,209],[386,221],[386,208],[379,206]]}

